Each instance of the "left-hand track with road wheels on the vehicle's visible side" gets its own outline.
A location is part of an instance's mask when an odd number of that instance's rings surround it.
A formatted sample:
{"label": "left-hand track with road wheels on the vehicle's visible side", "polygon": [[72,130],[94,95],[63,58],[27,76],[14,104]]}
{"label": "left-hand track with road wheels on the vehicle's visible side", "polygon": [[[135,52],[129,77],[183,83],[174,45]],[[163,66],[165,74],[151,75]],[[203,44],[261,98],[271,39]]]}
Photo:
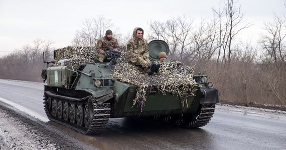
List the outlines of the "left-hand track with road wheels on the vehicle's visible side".
{"label": "left-hand track with road wheels on the vehicle's visible side", "polygon": [[[53,102],[53,100],[56,100],[56,102]],[[63,114],[64,102],[68,102],[69,109],[66,112],[68,116],[70,116],[71,113],[75,114],[75,119],[81,120],[81,123],[74,121],[73,117],[64,117],[67,116],[65,115],[66,113]],[[58,103],[62,103],[62,105]],[[70,111],[71,105],[76,107],[76,109],[73,109],[76,113]],[[92,95],[83,98],[74,98],[59,95],[52,91],[45,91],[44,107],[46,115],[50,120],[82,134],[99,133],[105,128],[110,116],[110,103],[97,104]]]}

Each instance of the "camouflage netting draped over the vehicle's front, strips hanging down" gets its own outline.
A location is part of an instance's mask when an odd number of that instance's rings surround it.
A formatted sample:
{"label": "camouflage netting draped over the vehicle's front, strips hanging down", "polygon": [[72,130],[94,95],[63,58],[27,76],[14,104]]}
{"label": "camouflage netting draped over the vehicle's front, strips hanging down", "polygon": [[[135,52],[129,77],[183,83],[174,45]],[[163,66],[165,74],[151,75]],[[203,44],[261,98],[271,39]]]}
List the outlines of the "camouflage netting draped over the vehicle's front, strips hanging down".
{"label": "camouflage netting draped over the vehicle's front, strips hanging down", "polygon": [[111,77],[122,82],[138,86],[133,105],[141,108],[145,105],[146,94],[153,89],[158,89],[163,94],[170,92],[180,96],[182,108],[188,96],[194,95],[195,80],[193,79],[194,67],[187,66],[180,61],[160,62],[159,72],[148,75],[147,71],[138,65],[128,63],[125,53],[123,60],[118,61]]}

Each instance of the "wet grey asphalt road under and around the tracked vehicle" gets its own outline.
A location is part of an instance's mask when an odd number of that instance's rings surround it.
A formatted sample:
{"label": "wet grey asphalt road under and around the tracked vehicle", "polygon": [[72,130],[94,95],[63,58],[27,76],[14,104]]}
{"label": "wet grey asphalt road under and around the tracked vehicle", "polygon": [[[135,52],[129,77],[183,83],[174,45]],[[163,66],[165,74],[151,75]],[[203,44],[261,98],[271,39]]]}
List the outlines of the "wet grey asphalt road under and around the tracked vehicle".
{"label": "wet grey asphalt road under and around the tracked vehicle", "polygon": [[[43,84],[0,79],[0,100],[47,121]],[[187,129],[144,118],[112,118],[98,135],[67,135],[99,149],[286,149],[286,112],[217,105],[204,127]]]}

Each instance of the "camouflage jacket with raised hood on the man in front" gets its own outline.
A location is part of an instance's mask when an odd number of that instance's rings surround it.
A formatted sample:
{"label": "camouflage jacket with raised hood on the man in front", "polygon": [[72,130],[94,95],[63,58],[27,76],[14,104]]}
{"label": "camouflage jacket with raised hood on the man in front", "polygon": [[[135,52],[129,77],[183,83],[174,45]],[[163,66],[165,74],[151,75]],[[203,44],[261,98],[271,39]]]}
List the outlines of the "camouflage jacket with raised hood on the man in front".
{"label": "camouflage jacket with raised hood on the man in front", "polygon": [[127,42],[127,59],[130,61],[131,58],[147,56],[149,58],[149,47],[148,41],[143,38],[136,37],[137,27],[133,30],[133,37]]}

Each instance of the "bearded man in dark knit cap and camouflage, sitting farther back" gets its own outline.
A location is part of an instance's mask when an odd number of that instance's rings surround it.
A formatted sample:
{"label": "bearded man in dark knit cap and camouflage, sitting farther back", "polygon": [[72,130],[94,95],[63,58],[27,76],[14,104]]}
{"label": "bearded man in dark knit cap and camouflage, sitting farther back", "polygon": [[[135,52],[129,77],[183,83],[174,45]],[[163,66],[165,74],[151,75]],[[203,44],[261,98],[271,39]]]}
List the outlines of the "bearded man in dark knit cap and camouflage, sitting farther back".
{"label": "bearded man in dark knit cap and camouflage, sitting farther back", "polygon": [[103,62],[106,60],[105,50],[109,50],[113,48],[113,50],[119,51],[119,44],[116,38],[112,37],[112,31],[107,29],[105,32],[105,36],[101,37],[96,43],[96,51],[99,53],[98,60]]}

